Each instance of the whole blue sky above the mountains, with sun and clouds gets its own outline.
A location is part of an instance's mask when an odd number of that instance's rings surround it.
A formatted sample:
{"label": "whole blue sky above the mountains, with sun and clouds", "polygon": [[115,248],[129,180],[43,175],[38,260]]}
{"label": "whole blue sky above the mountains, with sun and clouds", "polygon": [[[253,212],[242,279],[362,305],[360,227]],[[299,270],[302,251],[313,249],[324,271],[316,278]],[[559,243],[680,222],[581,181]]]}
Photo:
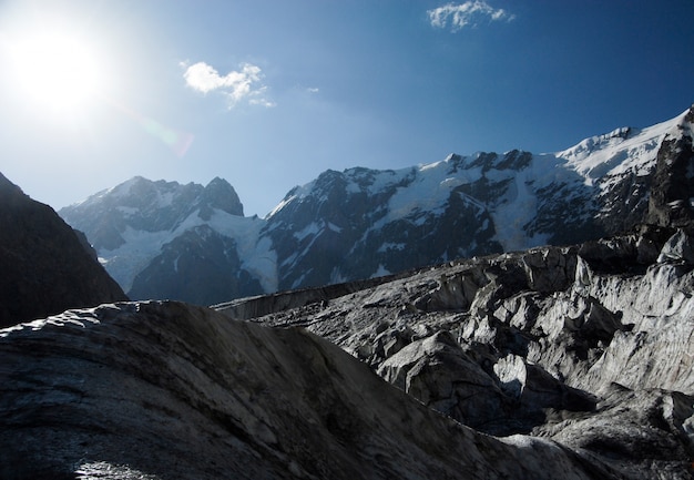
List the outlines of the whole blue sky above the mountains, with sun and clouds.
{"label": "whole blue sky above the mountains, with sun and clouds", "polygon": [[327,168],[671,119],[693,22],[692,0],[4,0],[0,172],[57,210],[221,176],[263,216]]}

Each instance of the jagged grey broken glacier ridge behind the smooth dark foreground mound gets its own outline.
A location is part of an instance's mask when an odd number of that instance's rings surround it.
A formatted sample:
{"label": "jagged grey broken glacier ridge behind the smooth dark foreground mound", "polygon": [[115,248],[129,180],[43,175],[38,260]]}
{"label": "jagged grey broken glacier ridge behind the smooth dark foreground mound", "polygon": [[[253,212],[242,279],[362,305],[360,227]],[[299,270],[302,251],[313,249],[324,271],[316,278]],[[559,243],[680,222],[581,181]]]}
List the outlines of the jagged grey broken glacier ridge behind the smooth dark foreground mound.
{"label": "jagged grey broken glacier ridge behind the smooth dark foreground mound", "polygon": [[345,284],[341,296],[216,308],[306,328],[423,405],[490,435],[554,441],[604,478],[688,479],[693,285],[692,231],[642,226]]}

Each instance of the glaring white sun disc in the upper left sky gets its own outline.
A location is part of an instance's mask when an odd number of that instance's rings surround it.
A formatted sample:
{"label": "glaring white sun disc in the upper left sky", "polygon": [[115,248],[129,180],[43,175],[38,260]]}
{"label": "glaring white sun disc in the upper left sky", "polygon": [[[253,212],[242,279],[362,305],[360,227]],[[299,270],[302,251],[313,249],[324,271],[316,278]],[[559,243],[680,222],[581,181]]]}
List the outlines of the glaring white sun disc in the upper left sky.
{"label": "glaring white sun disc in the upper left sky", "polygon": [[67,29],[33,29],[7,45],[9,73],[23,100],[45,114],[76,115],[103,93],[105,68],[88,38]]}

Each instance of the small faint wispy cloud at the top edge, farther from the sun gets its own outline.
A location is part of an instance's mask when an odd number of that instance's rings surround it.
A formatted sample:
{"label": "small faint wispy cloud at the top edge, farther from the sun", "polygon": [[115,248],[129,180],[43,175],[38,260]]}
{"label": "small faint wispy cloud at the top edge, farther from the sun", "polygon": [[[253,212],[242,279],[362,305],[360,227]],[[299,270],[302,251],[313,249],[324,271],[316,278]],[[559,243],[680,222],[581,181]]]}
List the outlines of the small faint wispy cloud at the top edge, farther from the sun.
{"label": "small faint wispy cloud at the top edge, farther from the sun", "polygon": [[456,32],[466,27],[476,27],[481,21],[511,21],[514,14],[504,9],[494,9],[484,0],[469,0],[463,3],[447,3],[428,10],[431,27],[445,29],[450,27]]}

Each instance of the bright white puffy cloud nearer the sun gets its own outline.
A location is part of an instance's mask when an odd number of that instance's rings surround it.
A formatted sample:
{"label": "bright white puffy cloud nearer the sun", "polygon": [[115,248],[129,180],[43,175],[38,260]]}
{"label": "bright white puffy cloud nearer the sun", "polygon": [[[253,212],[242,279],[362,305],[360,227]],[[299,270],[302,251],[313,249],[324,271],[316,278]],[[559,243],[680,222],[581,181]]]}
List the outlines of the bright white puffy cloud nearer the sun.
{"label": "bright white puffy cloud nearer the sun", "polygon": [[243,63],[238,71],[231,71],[226,75],[220,75],[205,62],[182,65],[185,68],[183,78],[186,85],[202,93],[221,92],[227,98],[229,109],[243,101],[252,105],[275,106],[266,96],[267,86],[262,84],[263,72],[257,65]]}

